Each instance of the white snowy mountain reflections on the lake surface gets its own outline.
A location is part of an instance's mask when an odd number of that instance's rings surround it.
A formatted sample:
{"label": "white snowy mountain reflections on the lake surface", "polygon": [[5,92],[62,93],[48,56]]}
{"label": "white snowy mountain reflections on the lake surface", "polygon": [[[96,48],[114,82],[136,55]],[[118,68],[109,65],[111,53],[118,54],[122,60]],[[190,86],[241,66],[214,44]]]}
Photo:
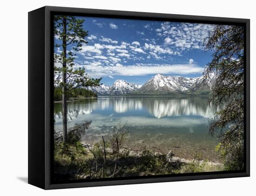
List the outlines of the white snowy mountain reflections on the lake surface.
{"label": "white snowy mountain reflections on the lake surface", "polygon": [[[111,111],[116,114],[146,110],[155,118],[171,116],[200,116],[213,118],[216,107],[207,104],[207,97],[100,97],[68,103],[67,119],[94,111]],[[104,112],[105,113],[105,112]],[[61,118],[61,103],[55,103],[55,119]]]}

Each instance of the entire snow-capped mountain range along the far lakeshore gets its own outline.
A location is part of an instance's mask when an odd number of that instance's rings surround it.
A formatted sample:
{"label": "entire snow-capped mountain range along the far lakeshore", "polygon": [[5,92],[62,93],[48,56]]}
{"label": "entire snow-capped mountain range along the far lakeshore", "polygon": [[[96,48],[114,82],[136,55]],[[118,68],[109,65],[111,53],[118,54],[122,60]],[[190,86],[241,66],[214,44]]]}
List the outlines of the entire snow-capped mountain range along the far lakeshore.
{"label": "entire snow-capped mountain range along the far lakeshore", "polygon": [[[55,76],[54,79],[61,79]],[[142,86],[130,83],[125,80],[116,80],[112,86],[101,84],[97,87],[86,87],[99,95],[163,95],[163,94],[189,94],[207,95],[214,84],[215,76],[210,76],[207,80],[200,77],[163,76],[157,74]]]}

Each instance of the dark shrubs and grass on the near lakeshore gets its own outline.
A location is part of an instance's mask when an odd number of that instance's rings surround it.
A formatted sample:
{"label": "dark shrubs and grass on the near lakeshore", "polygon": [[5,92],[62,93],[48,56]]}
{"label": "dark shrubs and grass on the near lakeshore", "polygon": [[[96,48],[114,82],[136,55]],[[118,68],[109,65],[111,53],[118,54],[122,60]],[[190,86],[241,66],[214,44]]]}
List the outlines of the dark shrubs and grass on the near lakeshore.
{"label": "dark shrubs and grass on the near lakeshore", "polygon": [[56,181],[94,179],[108,177],[132,177],[222,171],[222,164],[202,160],[200,153],[188,162],[170,161],[173,153],[153,152],[145,146],[141,151],[125,148],[127,130],[125,125],[114,126],[112,134],[102,136],[97,143],[82,143],[91,122],[77,125],[68,131],[68,142],[55,134],[54,178]]}

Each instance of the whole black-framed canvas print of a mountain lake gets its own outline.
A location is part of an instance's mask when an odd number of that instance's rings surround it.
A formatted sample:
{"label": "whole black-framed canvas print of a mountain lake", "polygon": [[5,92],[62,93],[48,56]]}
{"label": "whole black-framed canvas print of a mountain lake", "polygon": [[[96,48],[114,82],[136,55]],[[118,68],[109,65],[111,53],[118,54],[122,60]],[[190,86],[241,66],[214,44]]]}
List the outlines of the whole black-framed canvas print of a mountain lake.
{"label": "whole black-framed canvas print of a mountain lake", "polygon": [[28,13],[28,181],[249,176],[249,19]]}

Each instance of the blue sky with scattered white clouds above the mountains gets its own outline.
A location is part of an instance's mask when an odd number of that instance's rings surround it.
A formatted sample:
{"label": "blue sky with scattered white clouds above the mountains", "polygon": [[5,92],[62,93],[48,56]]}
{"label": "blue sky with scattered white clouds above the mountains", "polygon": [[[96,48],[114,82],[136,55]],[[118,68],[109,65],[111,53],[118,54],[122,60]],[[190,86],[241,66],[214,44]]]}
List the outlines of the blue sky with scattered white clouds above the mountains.
{"label": "blue sky with scattered white clouds above the mountains", "polygon": [[83,27],[89,35],[88,44],[77,52],[74,68],[83,67],[88,75],[102,77],[106,85],[117,79],[141,85],[156,74],[201,76],[212,58],[202,46],[212,25],[78,18],[85,19]]}

